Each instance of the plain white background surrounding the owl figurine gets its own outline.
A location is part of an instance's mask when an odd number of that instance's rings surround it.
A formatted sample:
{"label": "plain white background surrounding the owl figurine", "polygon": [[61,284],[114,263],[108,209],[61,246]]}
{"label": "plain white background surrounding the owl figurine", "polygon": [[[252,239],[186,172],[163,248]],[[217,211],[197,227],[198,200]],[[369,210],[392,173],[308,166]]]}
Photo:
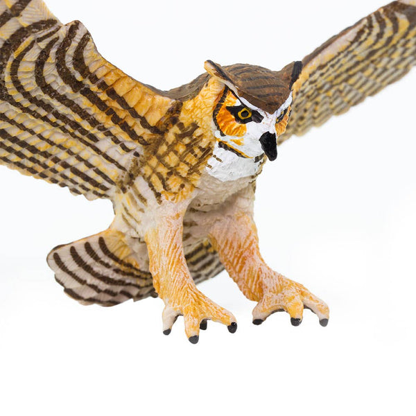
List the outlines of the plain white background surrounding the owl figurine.
{"label": "plain white background surrounding the owl figurine", "polygon": [[[98,49],[169,89],[207,59],[280,69],[383,0],[49,0]],[[209,322],[191,345],[162,301],[102,309],[66,297],[46,266],[55,245],[100,232],[109,201],[0,168],[1,415],[414,414],[416,70],[344,116],[279,148],[258,181],[270,266],[331,307],[251,324],[254,303],[225,273],[200,286],[239,330]]]}

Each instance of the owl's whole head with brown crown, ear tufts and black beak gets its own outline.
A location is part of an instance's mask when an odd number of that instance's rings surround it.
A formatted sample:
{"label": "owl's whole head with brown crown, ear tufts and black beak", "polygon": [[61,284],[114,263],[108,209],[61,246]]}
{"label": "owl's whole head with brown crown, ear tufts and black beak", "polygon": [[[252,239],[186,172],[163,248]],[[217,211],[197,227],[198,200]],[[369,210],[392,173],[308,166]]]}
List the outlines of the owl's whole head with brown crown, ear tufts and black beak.
{"label": "owl's whole head with brown crown, ear tufts and black beak", "polygon": [[205,69],[225,85],[213,112],[218,144],[243,157],[266,153],[275,160],[277,137],[285,132],[291,116],[292,87],[302,62],[270,71],[249,64],[220,67],[208,60]]}

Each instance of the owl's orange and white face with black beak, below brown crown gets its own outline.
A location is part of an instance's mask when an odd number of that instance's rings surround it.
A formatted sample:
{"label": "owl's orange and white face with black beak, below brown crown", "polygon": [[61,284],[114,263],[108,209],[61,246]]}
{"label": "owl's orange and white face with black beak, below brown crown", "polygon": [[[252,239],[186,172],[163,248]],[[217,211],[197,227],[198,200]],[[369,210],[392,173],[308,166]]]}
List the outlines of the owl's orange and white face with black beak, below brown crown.
{"label": "owl's orange and white face with black beak, below brown crown", "polygon": [[214,107],[214,135],[218,145],[242,157],[277,157],[277,137],[283,134],[291,114],[292,94],[269,114],[225,87]]}

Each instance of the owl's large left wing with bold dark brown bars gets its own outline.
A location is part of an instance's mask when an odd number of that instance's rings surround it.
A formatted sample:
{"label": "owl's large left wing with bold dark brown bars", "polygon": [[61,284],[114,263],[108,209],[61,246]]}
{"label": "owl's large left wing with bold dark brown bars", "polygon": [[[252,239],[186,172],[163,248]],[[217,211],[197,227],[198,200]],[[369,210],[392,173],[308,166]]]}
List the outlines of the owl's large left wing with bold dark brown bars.
{"label": "owl's large left wing with bold dark brown bars", "polygon": [[0,164],[111,198],[179,104],[107,62],[79,21],[0,0]]}

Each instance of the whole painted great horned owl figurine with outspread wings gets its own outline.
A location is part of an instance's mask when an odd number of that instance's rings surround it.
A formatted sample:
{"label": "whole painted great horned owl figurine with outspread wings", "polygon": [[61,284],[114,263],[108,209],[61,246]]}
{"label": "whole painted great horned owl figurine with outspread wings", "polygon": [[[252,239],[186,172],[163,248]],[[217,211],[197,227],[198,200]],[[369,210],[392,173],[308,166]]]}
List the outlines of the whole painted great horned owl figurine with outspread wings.
{"label": "whole painted great horned owl figurine with outspread wings", "polygon": [[207,60],[201,76],[162,91],[96,50],[79,21],[42,0],[0,0],[0,163],[108,198],[100,234],[54,248],[47,261],[81,304],[160,297],[167,335],[183,315],[197,343],[207,320],[237,328],[196,284],[223,270],[249,300],[253,323],[329,309],[270,269],[253,220],[257,176],[277,146],[342,114],[416,62],[416,0],[393,1],[280,71]]}

